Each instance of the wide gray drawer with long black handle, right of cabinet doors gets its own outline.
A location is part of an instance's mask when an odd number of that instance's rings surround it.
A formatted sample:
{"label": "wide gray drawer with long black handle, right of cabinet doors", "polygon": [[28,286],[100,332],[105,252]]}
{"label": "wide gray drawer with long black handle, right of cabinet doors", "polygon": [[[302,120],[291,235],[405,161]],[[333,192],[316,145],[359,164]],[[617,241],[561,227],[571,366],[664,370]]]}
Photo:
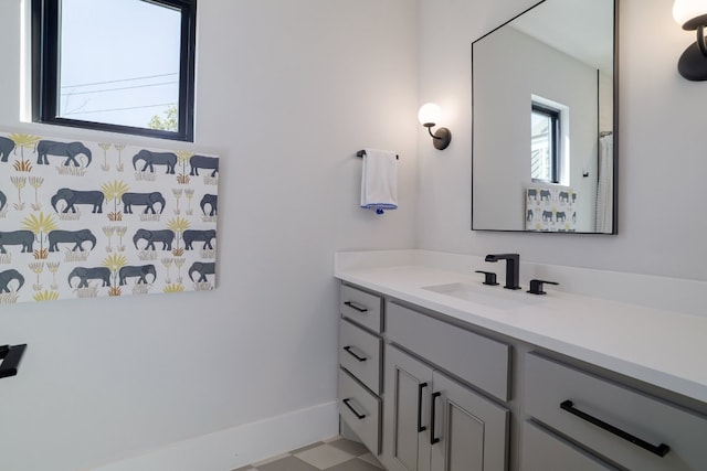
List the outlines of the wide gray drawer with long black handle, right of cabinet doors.
{"label": "wide gray drawer with long black handle, right of cabinet doors", "polygon": [[[706,417],[534,353],[525,393],[529,415],[622,467],[705,469]],[[669,447],[663,457],[661,445]]]}

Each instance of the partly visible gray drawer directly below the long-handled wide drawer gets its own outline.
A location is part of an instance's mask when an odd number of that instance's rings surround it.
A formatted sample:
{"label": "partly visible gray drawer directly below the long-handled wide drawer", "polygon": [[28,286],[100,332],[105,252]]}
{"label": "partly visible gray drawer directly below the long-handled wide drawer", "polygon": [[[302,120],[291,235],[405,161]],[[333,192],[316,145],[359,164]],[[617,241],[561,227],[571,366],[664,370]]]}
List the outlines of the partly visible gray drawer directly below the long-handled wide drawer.
{"label": "partly visible gray drawer directly below the long-handled wide drawer", "polygon": [[536,425],[523,425],[520,471],[618,471]]}

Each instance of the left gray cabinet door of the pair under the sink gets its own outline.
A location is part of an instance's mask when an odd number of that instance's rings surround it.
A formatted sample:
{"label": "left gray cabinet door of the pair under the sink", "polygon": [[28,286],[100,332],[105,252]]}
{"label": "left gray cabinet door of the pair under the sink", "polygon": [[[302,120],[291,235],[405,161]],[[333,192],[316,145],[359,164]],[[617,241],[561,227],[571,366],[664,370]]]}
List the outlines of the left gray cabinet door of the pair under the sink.
{"label": "left gray cabinet door of the pair under the sink", "polygon": [[395,347],[386,350],[384,456],[390,471],[430,471],[432,368]]}

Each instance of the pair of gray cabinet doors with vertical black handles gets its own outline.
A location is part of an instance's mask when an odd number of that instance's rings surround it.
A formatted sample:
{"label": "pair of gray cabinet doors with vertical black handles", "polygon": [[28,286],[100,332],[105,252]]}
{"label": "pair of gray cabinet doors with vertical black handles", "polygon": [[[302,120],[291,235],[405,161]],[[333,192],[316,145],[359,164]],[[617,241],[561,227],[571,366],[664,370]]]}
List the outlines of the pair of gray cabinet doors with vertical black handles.
{"label": "pair of gray cabinet doors with vertical black handles", "polygon": [[503,471],[509,413],[389,346],[384,461],[391,471]]}

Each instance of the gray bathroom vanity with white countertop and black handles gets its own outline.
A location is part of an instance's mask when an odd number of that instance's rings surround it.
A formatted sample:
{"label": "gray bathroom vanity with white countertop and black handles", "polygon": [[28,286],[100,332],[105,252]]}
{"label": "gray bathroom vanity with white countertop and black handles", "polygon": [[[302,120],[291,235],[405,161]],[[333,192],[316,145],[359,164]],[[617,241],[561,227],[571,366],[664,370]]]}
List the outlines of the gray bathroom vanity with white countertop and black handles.
{"label": "gray bathroom vanity with white countertop and black handles", "polygon": [[337,255],[345,431],[394,471],[705,469],[707,318],[486,287],[476,263]]}

